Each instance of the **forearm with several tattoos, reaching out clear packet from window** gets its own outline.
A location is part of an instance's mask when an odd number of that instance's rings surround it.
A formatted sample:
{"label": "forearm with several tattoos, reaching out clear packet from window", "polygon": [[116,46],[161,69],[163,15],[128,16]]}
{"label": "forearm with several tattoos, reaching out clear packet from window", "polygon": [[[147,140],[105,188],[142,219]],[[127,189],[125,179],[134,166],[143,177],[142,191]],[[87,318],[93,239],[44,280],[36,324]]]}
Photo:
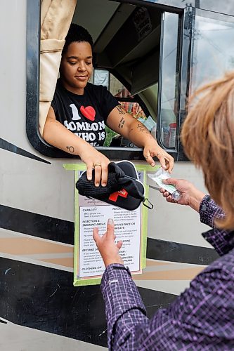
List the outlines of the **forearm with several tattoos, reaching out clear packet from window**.
{"label": "forearm with several tattoos, reaching out clear packet from window", "polygon": [[156,156],[161,166],[171,173],[174,166],[173,157],[158,145],[157,140],[152,137],[148,129],[141,122],[127,113],[120,105],[110,112],[107,123],[113,131],[131,140],[136,146],[142,147],[148,164],[155,166],[155,161],[152,157]]}

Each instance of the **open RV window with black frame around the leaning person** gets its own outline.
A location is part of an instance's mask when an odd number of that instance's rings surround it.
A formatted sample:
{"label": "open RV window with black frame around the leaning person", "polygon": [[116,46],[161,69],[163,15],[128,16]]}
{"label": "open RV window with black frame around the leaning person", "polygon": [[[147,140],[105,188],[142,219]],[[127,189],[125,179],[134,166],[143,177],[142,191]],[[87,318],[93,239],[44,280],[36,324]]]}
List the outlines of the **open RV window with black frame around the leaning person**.
{"label": "open RV window with black frame around the leaning person", "polygon": [[[40,6],[39,0],[27,1],[27,135],[41,154],[74,157],[46,144],[39,131]],[[145,1],[110,0],[77,0],[72,18],[89,30],[95,43],[93,84],[102,81],[108,86],[124,109],[143,122],[175,158],[182,19],[182,12],[167,13]],[[97,148],[110,159],[143,159],[140,148],[112,131],[108,131],[104,147]]]}

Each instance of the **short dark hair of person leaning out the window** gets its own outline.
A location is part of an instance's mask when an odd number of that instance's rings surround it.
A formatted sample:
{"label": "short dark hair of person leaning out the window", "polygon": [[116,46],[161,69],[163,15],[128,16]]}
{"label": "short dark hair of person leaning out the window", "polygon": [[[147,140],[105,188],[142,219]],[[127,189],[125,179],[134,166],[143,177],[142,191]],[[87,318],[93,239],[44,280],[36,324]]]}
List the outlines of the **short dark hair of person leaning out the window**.
{"label": "short dark hair of person leaning out the window", "polygon": [[91,45],[93,51],[93,38],[91,37],[91,34],[89,34],[87,29],[85,29],[81,25],[76,25],[75,23],[72,23],[68,30],[67,37],[65,37],[65,44],[63,46],[62,55],[67,52],[68,46],[74,41],[78,43],[81,41],[88,42]]}

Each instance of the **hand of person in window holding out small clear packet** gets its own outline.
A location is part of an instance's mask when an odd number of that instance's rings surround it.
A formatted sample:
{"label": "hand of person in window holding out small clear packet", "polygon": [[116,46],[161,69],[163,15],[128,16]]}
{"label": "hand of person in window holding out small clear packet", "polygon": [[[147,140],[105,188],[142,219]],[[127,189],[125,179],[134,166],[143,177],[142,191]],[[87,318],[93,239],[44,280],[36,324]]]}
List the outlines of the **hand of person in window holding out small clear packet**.
{"label": "hand of person in window holding out small clear packet", "polygon": [[150,166],[155,166],[155,161],[152,157],[156,156],[159,159],[162,168],[171,173],[174,166],[174,158],[163,150],[154,138],[150,138],[148,143],[145,144],[143,154]]}

